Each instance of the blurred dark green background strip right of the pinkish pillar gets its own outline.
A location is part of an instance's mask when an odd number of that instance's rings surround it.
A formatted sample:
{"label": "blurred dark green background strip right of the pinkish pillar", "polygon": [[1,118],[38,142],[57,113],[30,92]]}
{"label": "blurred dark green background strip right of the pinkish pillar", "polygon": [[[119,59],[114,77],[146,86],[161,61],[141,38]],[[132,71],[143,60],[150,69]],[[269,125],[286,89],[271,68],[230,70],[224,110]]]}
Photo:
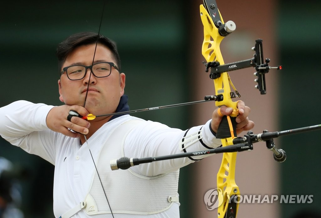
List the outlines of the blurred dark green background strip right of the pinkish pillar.
{"label": "blurred dark green background strip right of the pinkish pillar", "polygon": [[[321,106],[320,1],[281,1],[278,8],[277,41],[280,62],[279,110],[280,130],[289,130],[321,123],[316,115]],[[321,133],[307,132],[280,138],[288,158],[280,168],[282,195],[313,195],[311,204],[282,204],[282,216],[298,211],[318,213],[321,191]]]}

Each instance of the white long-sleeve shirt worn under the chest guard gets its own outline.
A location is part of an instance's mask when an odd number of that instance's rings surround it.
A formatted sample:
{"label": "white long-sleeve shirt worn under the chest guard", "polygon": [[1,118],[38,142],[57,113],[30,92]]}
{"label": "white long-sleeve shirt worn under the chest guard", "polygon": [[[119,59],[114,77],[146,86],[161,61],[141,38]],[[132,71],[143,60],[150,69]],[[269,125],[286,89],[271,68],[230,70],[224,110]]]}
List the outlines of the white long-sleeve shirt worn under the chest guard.
{"label": "white long-sleeve shirt worn under the chest guard", "polygon": [[[39,155],[55,165],[54,176],[54,214],[56,217],[64,214],[76,204],[83,201],[91,186],[91,178],[95,173],[89,149],[97,163],[99,152],[113,129],[129,120],[139,118],[124,115],[105,123],[89,139],[88,145],[81,146],[79,138],[67,137],[61,133],[48,129],[46,117],[53,106],[33,104],[27,101],[17,101],[0,108],[0,135],[15,146],[21,147],[30,154]],[[187,136],[202,129],[203,142],[208,147],[217,147],[221,144],[212,134],[208,121],[204,126],[192,127]],[[186,131],[169,128],[158,122],[143,121],[135,127],[124,140],[124,153],[128,157],[150,157],[183,153],[179,143]],[[115,149],[119,149],[115,147]],[[186,149],[187,152],[205,150],[206,148],[196,141]],[[119,158],[119,157],[115,157]],[[201,159],[202,156],[193,157]],[[140,164],[133,167],[133,171],[143,176],[155,176],[177,171],[193,160],[178,158],[166,161]],[[106,166],[109,167],[109,166]],[[159,184],[160,186],[162,184]],[[135,187],[127,187],[135,189]],[[157,189],[157,187],[154,187]],[[109,199],[108,199],[109,200]],[[136,201],[137,199],[133,199]],[[179,203],[174,203],[168,210],[159,214],[133,215],[114,214],[116,217],[179,217]],[[111,208],[113,209],[113,208]],[[73,217],[91,217],[83,211]],[[112,217],[111,214],[94,215],[95,218]]]}

